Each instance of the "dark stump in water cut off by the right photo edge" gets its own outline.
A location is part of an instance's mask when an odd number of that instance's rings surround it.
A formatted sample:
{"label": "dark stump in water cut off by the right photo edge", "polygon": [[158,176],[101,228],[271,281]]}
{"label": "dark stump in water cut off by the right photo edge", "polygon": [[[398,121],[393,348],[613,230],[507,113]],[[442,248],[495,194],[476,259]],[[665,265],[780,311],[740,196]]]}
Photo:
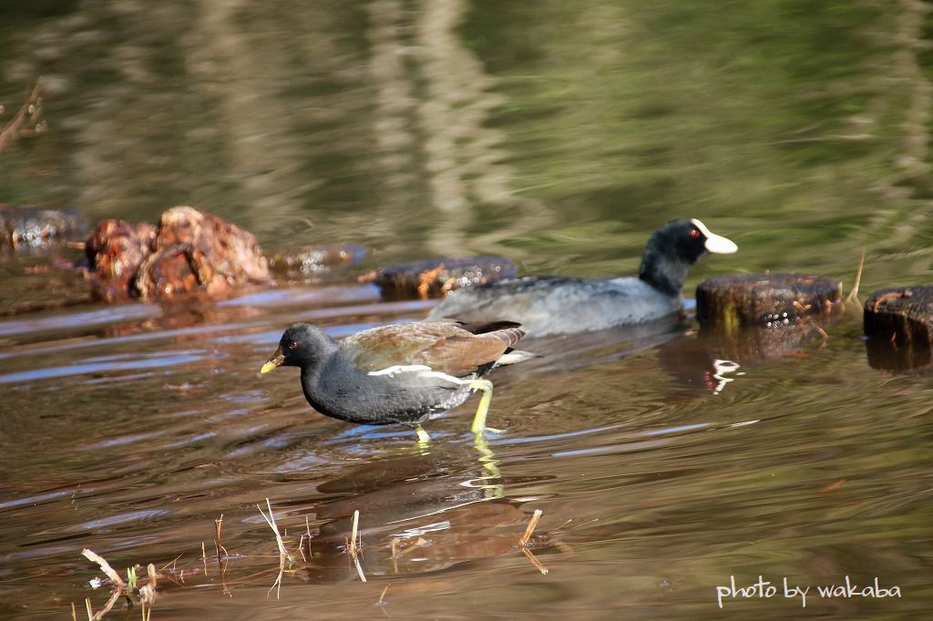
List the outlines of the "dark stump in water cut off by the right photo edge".
{"label": "dark stump in water cut off by the right photo edge", "polygon": [[888,287],[865,302],[869,364],[900,370],[930,364],[933,349],[933,285]]}

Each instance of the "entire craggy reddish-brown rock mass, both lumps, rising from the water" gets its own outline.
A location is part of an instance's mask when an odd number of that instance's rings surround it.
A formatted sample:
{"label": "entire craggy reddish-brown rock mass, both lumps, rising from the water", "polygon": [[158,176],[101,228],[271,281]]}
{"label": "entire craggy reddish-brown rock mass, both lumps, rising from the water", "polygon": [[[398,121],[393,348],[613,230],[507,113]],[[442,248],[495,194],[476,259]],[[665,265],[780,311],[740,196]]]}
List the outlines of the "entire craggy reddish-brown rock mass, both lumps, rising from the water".
{"label": "entire craggy reddish-brown rock mass, both lumps, rising from the water", "polygon": [[158,228],[104,220],[86,250],[94,295],[107,301],[221,297],[235,287],[272,283],[252,233],[193,207],[166,211]]}

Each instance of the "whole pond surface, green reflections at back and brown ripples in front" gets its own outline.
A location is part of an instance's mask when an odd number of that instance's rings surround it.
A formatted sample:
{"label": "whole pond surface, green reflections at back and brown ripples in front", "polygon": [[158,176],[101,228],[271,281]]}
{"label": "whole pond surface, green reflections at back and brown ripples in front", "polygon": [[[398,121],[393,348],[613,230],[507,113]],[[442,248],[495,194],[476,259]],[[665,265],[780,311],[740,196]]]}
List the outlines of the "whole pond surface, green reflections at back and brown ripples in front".
{"label": "whole pond surface, green reflections at back and brown ripples in front", "polygon": [[[848,291],[863,249],[863,298],[930,282],[926,5],[727,5],[4,8],[7,115],[44,75],[49,131],[3,153],[0,202],[91,221],[196,204],[267,250],[369,258],[219,303],[108,307],[56,267],[74,253],[2,255],[0,618],[100,610],[85,547],[162,568],[160,620],[926,616],[930,373],[872,366],[856,306],[784,344],[692,323],[529,341],[544,357],[495,372],[504,431],[485,445],[475,399],[419,448],[315,414],[294,369],[258,375],[294,321],[341,337],[425,315],[356,284],[365,269],[496,253],[630,274],[675,217],[740,248],[694,268],[688,297],[765,269]],[[293,557],[272,590],[267,498]],[[518,546],[535,509],[547,574]],[[365,584],[344,553],[355,510]],[[816,593],[847,575],[901,595]],[[731,576],[778,593],[720,610]],[[805,611],[785,577],[811,587]]]}

